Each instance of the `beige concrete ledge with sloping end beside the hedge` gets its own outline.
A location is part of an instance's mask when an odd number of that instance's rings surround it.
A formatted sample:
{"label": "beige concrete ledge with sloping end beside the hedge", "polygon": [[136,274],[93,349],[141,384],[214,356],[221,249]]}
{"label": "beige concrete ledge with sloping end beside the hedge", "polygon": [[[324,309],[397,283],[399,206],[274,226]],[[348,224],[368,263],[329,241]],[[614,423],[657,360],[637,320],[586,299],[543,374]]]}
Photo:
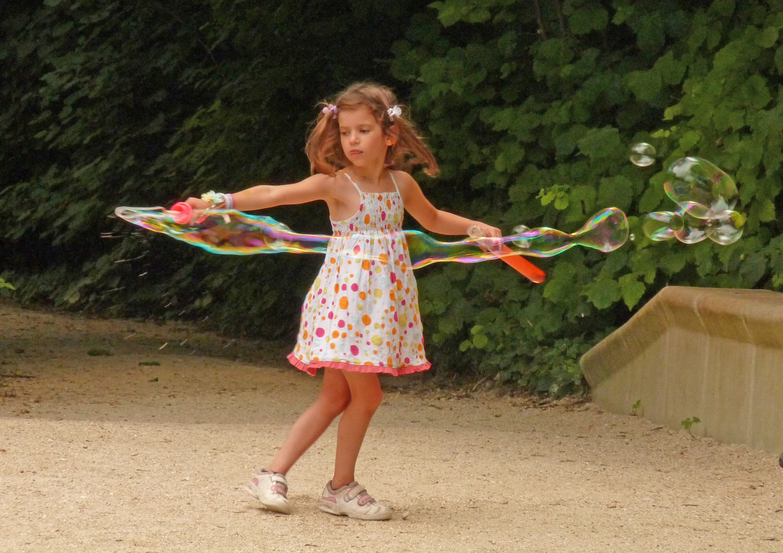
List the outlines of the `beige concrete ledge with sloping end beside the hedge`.
{"label": "beige concrete ledge with sloping end beside the hedge", "polygon": [[580,364],[609,411],[783,451],[783,293],[669,286]]}

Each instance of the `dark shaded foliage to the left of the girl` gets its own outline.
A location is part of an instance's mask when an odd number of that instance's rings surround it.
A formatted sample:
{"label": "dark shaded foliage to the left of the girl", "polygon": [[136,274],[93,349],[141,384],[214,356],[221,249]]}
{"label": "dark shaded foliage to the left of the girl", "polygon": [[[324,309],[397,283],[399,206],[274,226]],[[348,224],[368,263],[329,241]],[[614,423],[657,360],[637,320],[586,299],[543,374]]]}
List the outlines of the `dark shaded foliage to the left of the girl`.
{"label": "dark shaded foliage to the left of the girl", "polygon": [[[135,232],[114,208],[305,177],[316,102],[390,81],[382,60],[414,6],[5,2],[0,270],[18,299],[290,336],[316,256],[212,256]],[[269,214],[329,229],[324,206]]]}

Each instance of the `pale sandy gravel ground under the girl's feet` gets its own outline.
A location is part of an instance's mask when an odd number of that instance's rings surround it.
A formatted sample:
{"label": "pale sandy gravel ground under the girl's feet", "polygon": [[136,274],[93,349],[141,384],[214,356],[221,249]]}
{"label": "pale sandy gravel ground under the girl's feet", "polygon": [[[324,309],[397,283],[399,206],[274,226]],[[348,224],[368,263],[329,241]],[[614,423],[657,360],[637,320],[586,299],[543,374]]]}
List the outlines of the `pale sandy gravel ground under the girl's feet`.
{"label": "pale sandy gravel ground under the girl's feet", "polygon": [[395,518],[316,508],[334,425],[289,474],[294,514],[266,512],[240,484],[319,388],[242,361],[270,355],[283,359],[182,325],[0,303],[0,551],[783,551],[770,454],[575,400],[394,379],[358,477]]}

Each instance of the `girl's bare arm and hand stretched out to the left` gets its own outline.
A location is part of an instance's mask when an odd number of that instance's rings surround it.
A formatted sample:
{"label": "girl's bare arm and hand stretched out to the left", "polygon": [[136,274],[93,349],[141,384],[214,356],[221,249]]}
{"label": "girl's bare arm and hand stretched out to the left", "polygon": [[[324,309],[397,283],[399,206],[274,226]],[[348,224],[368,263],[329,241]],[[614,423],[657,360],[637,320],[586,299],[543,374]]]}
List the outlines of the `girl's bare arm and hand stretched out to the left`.
{"label": "girl's bare arm and hand stretched out to the left", "polygon": [[[233,195],[234,209],[240,211],[263,210],[274,206],[314,202],[318,199],[323,199],[328,203],[334,196],[334,186],[330,186],[330,181],[334,181],[334,178],[325,174],[314,174],[312,177],[305,178],[304,181],[296,182],[293,185],[253,186]],[[186,203],[196,209],[203,210],[210,207],[209,203],[200,198],[188,198]]]}

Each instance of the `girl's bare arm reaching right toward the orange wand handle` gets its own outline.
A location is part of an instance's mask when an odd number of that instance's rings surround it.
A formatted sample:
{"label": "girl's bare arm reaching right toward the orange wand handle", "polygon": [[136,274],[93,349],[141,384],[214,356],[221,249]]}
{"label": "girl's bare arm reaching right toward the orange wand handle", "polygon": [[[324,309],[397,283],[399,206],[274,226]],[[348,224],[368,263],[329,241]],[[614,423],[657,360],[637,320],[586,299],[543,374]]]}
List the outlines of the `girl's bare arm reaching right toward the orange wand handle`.
{"label": "girl's bare arm reaching right toward the orange wand handle", "polygon": [[395,178],[399,183],[399,192],[406,211],[428,231],[445,235],[467,235],[467,228],[477,224],[482,228],[485,236],[500,238],[503,235],[500,228],[435,209],[435,206],[424,197],[424,192],[421,192],[419,184],[410,174],[395,171]]}

